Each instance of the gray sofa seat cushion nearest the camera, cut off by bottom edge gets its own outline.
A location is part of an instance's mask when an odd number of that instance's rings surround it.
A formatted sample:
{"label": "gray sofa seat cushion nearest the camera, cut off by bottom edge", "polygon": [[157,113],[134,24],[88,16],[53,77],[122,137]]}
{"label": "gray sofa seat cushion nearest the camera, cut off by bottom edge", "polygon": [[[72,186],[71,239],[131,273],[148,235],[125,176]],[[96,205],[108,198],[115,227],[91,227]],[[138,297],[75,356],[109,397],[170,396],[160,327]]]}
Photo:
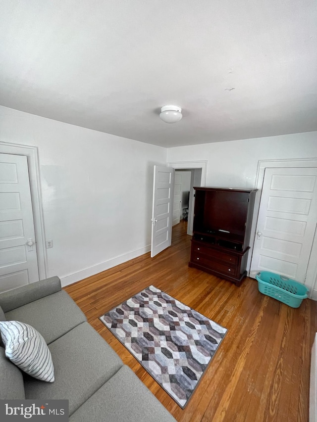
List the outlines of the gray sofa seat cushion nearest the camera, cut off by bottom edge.
{"label": "gray sofa seat cushion nearest the camera, cut off by bottom edge", "polygon": [[175,422],[175,419],[125,365],[69,421]]}

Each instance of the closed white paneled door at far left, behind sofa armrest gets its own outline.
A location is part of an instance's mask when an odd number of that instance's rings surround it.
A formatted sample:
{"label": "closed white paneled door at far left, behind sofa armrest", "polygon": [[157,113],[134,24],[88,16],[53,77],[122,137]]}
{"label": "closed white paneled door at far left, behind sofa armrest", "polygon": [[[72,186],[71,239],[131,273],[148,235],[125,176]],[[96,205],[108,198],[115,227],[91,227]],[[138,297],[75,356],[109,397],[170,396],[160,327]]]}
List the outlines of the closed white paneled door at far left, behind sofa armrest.
{"label": "closed white paneled door at far left, behind sofa armrest", "polygon": [[27,157],[0,154],[0,291],[38,280]]}

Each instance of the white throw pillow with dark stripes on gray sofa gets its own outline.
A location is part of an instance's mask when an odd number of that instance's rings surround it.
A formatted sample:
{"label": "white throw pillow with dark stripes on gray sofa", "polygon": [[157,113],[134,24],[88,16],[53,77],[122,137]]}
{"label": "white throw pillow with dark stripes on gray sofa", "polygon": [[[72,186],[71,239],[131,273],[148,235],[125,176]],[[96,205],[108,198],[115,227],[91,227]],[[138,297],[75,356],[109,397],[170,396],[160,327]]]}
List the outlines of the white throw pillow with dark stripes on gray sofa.
{"label": "white throw pillow with dark stripes on gray sofa", "polygon": [[35,328],[18,321],[1,321],[0,332],[5,356],[11,362],[34,378],[54,382],[51,352]]}

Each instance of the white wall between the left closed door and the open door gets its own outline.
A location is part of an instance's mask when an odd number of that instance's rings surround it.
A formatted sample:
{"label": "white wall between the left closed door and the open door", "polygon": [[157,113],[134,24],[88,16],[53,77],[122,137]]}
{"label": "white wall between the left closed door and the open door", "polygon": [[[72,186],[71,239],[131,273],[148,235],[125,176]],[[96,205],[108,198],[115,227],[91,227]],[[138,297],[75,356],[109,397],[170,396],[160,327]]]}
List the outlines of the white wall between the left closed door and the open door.
{"label": "white wall between the left closed door and the open door", "polygon": [[0,141],[38,148],[48,277],[65,285],[150,250],[165,148],[1,106],[0,128]]}

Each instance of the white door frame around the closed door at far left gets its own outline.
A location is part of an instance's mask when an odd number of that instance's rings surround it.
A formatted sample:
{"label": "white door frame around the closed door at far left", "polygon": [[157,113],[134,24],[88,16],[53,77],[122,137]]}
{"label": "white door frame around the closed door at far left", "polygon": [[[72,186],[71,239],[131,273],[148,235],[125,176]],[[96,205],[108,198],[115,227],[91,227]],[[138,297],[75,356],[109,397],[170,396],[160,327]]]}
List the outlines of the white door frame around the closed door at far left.
{"label": "white door frame around the closed door at far left", "polygon": [[24,155],[27,157],[29,168],[29,180],[33,209],[34,230],[36,238],[36,251],[38,258],[40,280],[47,278],[47,253],[45,247],[44,216],[41,196],[40,166],[38,148],[30,145],[19,145],[0,141],[0,152],[12,155]]}

